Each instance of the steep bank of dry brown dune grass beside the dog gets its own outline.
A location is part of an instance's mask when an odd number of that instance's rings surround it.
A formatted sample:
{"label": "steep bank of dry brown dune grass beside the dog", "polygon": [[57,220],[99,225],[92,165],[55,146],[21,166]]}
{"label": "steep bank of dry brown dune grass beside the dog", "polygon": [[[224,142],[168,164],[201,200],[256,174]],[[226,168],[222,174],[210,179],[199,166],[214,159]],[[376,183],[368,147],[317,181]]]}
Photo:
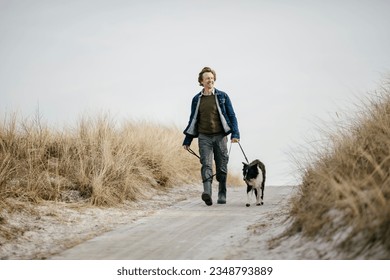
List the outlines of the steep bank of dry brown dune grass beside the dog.
{"label": "steep bank of dry brown dune grass beside the dog", "polygon": [[304,169],[291,231],[351,258],[390,258],[390,80],[361,108]]}

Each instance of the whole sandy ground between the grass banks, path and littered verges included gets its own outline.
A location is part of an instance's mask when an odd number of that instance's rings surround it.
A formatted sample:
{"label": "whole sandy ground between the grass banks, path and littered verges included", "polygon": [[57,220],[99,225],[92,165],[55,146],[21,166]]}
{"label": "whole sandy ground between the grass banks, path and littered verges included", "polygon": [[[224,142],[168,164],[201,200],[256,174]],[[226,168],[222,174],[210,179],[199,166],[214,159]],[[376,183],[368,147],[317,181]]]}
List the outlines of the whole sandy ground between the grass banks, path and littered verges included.
{"label": "whole sandy ground between the grass banks, path and littered verges included", "polygon": [[244,187],[229,188],[226,205],[208,207],[199,185],[153,191],[150,199],[118,208],[44,203],[32,212],[2,214],[20,234],[0,239],[0,259],[348,258],[329,242],[278,238],[291,222],[294,192],[290,186],[266,187],[265,204],[251,207],[245,207]]}

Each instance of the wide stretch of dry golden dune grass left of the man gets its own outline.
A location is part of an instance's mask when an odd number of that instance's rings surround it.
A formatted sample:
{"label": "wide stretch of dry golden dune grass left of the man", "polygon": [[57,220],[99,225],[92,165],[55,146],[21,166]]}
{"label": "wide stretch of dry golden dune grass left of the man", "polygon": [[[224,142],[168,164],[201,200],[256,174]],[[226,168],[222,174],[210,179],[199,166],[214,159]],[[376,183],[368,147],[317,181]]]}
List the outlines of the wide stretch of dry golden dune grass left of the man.
{"label": "wide stretch of dry golden dune grass left of the man", "polygon": [[1,209],[15,208],[12,198],[115,206],[151,187],[196,182],[199,162],[181,149],[182,138],[175,127],[141,121],[118,127],[109,116],[83,118],[62,131],[39,116],[7,116],[0,124]]}

